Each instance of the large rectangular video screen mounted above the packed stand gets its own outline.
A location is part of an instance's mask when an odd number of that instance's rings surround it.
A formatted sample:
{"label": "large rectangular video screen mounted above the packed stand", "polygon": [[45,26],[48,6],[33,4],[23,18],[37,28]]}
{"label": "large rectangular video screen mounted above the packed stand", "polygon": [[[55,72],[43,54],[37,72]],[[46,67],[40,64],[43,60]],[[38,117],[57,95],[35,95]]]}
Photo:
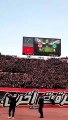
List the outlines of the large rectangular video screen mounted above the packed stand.
{"label": "large rectangular video screen mounted above the packed stand", "polygon": [[23,37],[23,55],[60,56],[61,39]]}

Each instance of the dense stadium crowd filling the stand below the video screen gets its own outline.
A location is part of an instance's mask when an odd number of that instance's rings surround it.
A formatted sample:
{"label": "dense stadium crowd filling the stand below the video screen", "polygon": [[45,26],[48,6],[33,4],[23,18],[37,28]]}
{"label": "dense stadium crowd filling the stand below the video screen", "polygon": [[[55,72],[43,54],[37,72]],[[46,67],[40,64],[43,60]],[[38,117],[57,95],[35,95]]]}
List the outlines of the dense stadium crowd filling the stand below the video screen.
{"label": "dense stadium crowd filling the stand below the video screen", "polygon": [[25,59],[0,54],[0,87],[68,89],[67,60]]}

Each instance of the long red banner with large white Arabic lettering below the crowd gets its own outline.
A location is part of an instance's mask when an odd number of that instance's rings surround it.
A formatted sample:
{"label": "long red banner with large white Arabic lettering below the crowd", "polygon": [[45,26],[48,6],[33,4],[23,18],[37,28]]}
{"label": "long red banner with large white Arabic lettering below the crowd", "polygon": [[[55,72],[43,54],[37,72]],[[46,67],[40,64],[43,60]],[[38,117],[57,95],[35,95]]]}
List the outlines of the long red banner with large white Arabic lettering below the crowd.
{"label": "long red banner with large white Arabic lettering below the crowd", "polygon": [[[38,106],[39,94],[44,98],[44,107],[68,108],[68,90],[65,89],[24,89],[24,88],[0,88],[0,107],[9,106],[8,94],[16,94],[17,107]],[[51,100],[54,101],[54,105]]]}

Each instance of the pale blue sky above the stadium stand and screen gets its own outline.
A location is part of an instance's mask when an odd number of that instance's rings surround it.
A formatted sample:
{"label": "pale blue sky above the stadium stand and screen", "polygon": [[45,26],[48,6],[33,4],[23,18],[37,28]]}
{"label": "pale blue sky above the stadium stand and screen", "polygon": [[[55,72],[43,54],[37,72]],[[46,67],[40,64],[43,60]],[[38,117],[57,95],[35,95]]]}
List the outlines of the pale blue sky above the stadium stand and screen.
{"label": "pale blue sky above the stadium stand and screen", "polygon": [[0,53],[22,57],[23,36],[60,38],[68,56],[68,0],[0,0]]}

